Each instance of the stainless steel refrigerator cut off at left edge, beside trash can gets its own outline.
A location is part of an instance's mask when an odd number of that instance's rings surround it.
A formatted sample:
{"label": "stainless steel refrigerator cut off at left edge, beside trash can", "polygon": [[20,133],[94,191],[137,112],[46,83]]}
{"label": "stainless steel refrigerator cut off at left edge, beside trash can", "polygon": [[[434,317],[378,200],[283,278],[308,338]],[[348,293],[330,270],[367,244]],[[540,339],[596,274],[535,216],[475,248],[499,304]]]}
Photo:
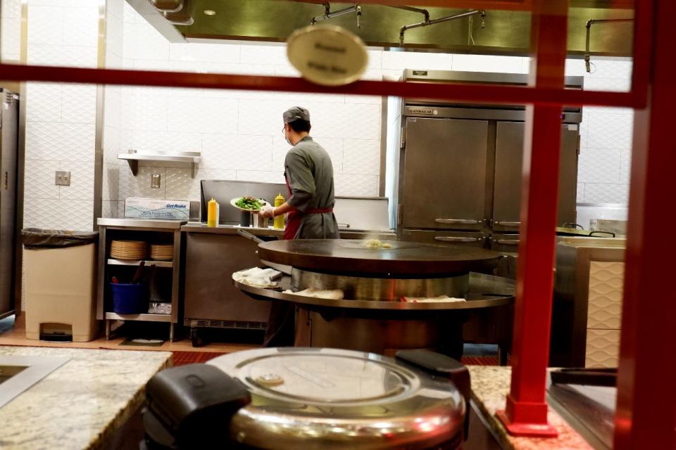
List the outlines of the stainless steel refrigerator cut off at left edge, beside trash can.
{"label": "stainless steel refrigerator cut off at left edge, beside trash can", "polygon": [[0,88],[0,318],[14,311],[19,96]]}

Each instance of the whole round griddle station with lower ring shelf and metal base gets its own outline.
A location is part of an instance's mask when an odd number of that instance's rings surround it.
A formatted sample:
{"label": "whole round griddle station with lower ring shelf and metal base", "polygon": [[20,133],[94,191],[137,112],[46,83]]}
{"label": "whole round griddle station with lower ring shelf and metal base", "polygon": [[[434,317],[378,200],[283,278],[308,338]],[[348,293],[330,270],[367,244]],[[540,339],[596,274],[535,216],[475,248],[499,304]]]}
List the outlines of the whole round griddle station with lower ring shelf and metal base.
{"label": "whole round griddle station with lower ring shelf and metal base", "polygon": [[[305,297],[280,290],[234,286],[256,300],[282,300],[298,307],[296,346],[338,347],[385,353],[434,347],[460,357],[463,322],[470,311],[513,302],[513,282],[471,274],[494,264],[499,254],[480,248],[449,248],[392,242],[371,249],[349,240],[262,243],[263,262],[292,266],[282,290],[342,289],[346,299]],[[465,302],[408,303],[401,296],[450,295]]]}

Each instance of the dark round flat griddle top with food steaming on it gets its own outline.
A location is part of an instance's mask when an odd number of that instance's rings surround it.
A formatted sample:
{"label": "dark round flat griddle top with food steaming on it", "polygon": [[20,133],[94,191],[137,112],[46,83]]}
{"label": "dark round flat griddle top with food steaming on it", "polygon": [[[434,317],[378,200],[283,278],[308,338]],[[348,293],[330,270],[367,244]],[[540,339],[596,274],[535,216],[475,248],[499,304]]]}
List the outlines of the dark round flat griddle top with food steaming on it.
{"label": "dark round flat griddle top with food steaming on it", "polygon": [[311,271],[342,274],[434,276],[477,271],[501,255],[492,250],[387,241],[392,248],[368,248],[363,240],[306,239],[261,243],[263,261]]}

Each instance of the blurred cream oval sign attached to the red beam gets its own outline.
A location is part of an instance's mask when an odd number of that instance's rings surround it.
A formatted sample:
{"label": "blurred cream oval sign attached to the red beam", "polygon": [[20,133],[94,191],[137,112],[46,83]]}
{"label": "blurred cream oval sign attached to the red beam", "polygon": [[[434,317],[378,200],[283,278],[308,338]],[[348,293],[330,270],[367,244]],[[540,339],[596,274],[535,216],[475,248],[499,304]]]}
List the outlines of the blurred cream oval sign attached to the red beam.
{"label": "blurred cream oval sign attached to the red beam", "polygon": [[303,78],[324,86],[355,82],[368,63],[363,41],[336,25],[296,30],[287,40],[287,56]]}

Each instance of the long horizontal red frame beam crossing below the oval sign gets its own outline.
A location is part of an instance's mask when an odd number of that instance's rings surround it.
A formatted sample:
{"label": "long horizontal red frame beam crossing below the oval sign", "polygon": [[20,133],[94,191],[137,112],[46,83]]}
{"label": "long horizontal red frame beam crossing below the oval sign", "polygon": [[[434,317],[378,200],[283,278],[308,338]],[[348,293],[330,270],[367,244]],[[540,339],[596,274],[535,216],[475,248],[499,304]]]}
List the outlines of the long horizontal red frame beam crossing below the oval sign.
{"label": "long horizontal red frame beam crossing below the oval sign", "polygon": [[[565,17],[565,16],[563,16]],[[0,79],[34,82],[122,84],[132,86],[198,87],[253,91],[317,92],[436,98],[439,100],[501,104],[598,105],[643,108],[645,96],[632,92],[580,91],[553,87],[487,86],[469,83],[361,81],[328,87],[295,77],[261,77],[147,70],[61,68],[39,65],[0,64]]]}

